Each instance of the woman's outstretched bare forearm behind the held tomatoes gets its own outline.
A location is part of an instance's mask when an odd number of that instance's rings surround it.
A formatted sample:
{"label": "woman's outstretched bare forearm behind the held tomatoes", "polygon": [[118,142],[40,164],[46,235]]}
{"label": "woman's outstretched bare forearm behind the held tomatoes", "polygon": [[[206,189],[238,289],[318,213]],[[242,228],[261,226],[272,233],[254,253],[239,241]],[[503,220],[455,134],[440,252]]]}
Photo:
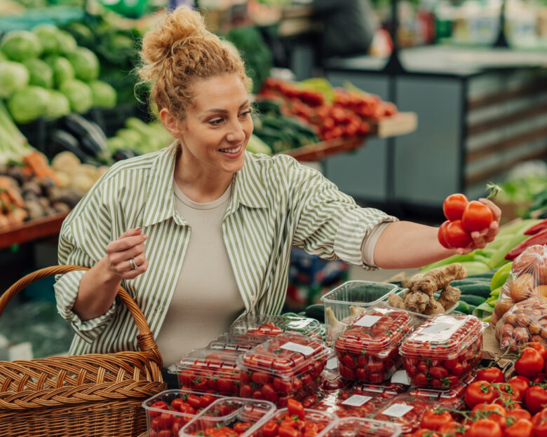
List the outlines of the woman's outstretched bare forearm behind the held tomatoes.
{"label": "woman's outstretched bare forearm behind the held tomatoes", "polygon": [[391,223],[374,248],[374,263],[384,269],[417,268],[454,255],[440,245],[437,231],[410,221]]}

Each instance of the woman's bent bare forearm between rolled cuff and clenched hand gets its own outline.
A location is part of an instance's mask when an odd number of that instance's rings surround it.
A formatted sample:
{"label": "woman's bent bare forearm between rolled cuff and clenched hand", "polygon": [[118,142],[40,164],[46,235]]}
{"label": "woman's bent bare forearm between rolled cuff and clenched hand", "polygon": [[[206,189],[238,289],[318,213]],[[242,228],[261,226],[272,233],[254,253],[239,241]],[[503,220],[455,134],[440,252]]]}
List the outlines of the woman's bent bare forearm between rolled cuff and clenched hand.
{"label": "woman's bent bare forearm between rolled cuff and clenched hand", "polygon": [[112,275],[105,256],[81,278],[72,311],[82,320],[102,316],[114,303],[120,284],[121,279]]}

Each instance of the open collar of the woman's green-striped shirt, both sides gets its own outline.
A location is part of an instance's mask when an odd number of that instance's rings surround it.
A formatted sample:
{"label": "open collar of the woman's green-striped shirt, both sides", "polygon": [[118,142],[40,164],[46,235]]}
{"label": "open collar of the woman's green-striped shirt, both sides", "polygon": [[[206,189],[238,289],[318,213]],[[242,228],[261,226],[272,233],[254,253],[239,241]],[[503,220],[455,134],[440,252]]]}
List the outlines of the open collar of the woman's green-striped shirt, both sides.
{"label": "open collar of the woman's green-striped shirt, both sides", "polygon": [[[151,167],[147,186],[147,202],[144,205],[142,226],[151,226],[161,221],[174,218],[175,200],[173,199],[173,172],[177,157],[177,143],[158,152],[158,158]],[[227,213],[236,211],[240,204],[250,208],[266,208],[265,186],[257,167],[257,158],[245,152],[245,165],[234,176],[232,194]],[[184,222],[184,221],[183,221]],[[178,223],[184,225],[187,223]]]}

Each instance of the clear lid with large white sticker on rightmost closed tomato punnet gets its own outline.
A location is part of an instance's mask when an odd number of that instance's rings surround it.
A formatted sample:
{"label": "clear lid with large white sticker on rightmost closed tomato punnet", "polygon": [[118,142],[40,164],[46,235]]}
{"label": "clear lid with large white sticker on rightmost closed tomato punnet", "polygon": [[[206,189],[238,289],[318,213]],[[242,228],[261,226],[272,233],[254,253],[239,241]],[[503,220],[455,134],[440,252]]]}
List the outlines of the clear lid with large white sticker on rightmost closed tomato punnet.
{"label": "clear lid with large white sticker on rightmost closed tomato punnet", "polygon": [[400,347],[408,357],[454,359],[479,335],[485,324],[475,316],[440,314],[419,326]]}

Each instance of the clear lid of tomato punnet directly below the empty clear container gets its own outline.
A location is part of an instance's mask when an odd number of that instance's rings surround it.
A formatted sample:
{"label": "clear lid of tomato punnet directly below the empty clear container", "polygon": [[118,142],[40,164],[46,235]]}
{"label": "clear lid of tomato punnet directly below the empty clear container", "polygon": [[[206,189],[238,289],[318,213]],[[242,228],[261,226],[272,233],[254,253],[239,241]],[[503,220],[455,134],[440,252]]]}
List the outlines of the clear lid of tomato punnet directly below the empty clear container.
{"label": "clear lid of tomato punnet directly below the empty clear container", "polygon": [[346,327],[336,339],[337,352],[384,358],[412,329],[410,316],[401,310],[370,308]]}

